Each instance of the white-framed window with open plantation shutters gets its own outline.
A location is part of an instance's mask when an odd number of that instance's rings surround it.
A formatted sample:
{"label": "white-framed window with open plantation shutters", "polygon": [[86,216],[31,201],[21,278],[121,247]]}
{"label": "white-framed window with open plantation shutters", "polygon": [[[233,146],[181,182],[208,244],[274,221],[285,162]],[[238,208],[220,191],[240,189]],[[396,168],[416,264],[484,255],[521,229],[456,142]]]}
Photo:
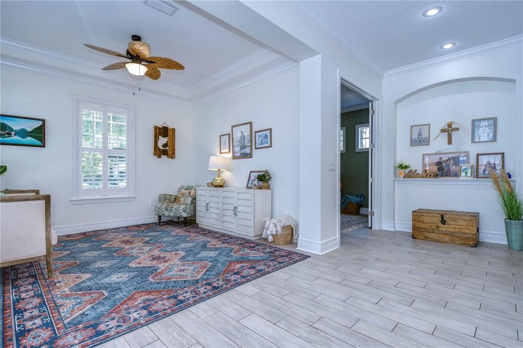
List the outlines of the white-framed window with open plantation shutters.
{"label": "white-framed window with open plantation shutters", "polygon": [[133,198],[133,110],[75,98],[74,204]]}

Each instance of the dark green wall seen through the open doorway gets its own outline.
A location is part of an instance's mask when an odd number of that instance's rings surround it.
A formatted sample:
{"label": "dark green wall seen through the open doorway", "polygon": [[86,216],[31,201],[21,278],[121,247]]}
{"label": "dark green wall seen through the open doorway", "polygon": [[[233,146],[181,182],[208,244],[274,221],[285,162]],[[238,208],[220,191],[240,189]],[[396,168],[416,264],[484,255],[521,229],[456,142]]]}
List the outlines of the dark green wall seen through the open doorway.
{"label": "dark green wall seen through the open doorway", "polygon": [[369,207],[369,153],[356,152],[356,125],[369,123],[369,109],[342,113],[341,126],[346,127],[346,152],[340,154],[340,171],[343,183],[342,197],[363,193],[365,205]]}

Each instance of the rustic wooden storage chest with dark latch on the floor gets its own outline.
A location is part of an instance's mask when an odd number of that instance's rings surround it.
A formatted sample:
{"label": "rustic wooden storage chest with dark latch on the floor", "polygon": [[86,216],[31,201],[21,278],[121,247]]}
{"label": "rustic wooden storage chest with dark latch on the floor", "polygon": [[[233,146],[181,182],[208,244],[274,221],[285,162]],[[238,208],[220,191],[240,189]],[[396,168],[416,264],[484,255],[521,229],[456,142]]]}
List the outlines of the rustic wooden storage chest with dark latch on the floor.
{"label": "rustic wooden storage chest with dark latch on the floor", "polygon": [[412,238],[477,247],[480,213],[418,209],[412,212]]}

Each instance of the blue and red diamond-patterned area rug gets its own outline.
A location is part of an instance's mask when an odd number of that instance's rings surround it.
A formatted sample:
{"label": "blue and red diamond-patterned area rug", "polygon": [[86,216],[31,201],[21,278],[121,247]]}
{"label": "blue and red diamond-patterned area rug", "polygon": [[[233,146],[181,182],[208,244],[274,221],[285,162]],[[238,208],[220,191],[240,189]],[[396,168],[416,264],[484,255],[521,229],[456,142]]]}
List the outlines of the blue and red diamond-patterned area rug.
{"label": "blue and red diamond-patterned area rug", "polygon": [[3,347],[90,347],[308,258],[174,223],[59,237],[1,272]]}

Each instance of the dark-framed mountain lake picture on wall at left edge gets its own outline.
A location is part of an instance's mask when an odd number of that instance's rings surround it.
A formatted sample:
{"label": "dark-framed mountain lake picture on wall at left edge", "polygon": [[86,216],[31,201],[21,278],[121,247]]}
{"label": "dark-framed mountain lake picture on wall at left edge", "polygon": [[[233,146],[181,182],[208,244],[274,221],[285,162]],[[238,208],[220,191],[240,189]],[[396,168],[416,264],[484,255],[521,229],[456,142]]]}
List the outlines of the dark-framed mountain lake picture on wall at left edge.
{"label": "dark-framed mountain lake picture on wall at left edge", "polygon": [[0,114],[0,145],[46,147],[46,120]]}

